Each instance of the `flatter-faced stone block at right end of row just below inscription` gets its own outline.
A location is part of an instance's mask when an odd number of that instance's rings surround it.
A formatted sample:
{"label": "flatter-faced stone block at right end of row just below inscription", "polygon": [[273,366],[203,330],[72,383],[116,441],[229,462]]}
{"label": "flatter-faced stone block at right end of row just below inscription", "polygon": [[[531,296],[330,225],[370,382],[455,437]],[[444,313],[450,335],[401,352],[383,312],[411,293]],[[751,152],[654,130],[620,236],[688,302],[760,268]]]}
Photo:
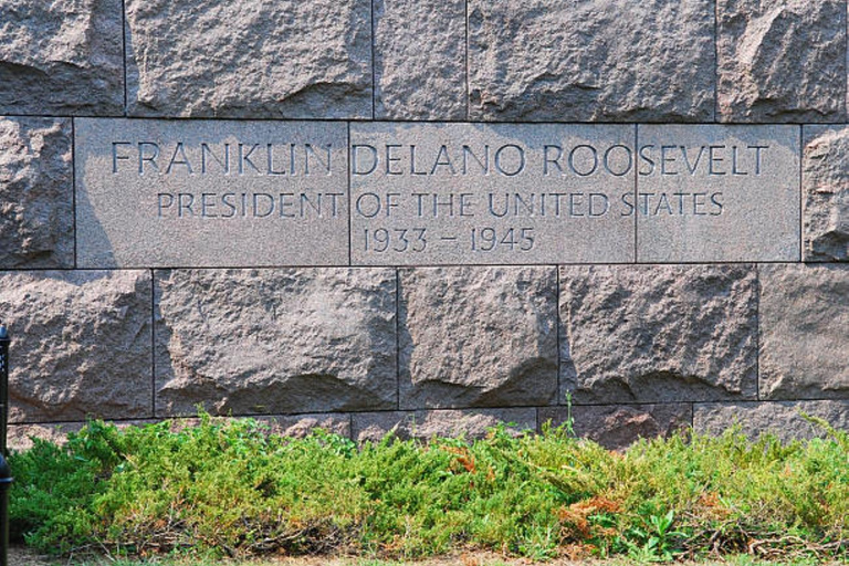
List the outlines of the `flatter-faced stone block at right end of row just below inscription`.
{"label": "flatter-faced stone block at right end of row just below inscription", "polygon": [[849,399],[849,265],[762,265],[761,397]]}

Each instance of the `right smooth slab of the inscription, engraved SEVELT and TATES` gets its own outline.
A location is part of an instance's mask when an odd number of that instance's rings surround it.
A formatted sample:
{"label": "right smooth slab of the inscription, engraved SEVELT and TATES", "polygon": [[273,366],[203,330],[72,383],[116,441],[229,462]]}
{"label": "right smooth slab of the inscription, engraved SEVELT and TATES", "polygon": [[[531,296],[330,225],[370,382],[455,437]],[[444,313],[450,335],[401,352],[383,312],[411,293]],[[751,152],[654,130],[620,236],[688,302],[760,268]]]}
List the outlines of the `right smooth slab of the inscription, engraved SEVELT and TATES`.
{"label": "right smooth slab of the inscription, engraved SEVELT and TATES", "polygon": [[639,126],[637,259],[798,261],[798,126]]}

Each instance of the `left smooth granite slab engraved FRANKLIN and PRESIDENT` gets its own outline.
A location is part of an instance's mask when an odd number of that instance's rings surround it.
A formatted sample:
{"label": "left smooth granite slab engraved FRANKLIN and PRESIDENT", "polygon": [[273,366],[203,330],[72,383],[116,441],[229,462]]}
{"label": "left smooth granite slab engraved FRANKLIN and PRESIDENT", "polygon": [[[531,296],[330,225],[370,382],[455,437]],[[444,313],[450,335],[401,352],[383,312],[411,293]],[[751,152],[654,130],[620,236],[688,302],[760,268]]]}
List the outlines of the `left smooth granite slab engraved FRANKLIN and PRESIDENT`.
{"label": "left smooth granite slab engraved FRANKLIN and PRESIDENT", "polygon": [[348,263],[345,124],[75,124],[78,266]]}

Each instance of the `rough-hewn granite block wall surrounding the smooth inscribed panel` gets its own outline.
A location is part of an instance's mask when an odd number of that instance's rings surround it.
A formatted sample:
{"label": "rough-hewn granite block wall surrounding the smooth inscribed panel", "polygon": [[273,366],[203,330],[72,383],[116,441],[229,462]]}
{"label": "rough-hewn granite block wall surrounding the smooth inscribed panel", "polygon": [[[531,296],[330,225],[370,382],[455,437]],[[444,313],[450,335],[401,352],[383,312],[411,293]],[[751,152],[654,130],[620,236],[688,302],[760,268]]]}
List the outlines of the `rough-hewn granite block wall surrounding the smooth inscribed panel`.
{"label": "rough-hewn granite block wall surrounding the smooth inscribed panel", "polygon": [[[356,439],[536,429],[569,403],[611,447],[849,426],[846,30],[846,0],[0,0],[10,444],[198,405]],[[800,253],[78,269],[90,117],[793,124]]]}

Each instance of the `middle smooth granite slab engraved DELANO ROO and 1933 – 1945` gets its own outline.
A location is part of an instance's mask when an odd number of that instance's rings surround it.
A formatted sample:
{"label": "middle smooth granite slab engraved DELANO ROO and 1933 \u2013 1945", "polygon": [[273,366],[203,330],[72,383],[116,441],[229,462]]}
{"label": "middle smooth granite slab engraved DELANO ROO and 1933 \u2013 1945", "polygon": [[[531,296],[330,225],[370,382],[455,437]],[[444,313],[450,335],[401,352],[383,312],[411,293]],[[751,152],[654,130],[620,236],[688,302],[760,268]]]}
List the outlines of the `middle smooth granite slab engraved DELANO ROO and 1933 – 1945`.
{"label": "middle smooth granite slab engraved DELANO ROO and 1933 \u2013 1945", "polygon": [[627,125],[352,124],[361,265],[633,260]]}

